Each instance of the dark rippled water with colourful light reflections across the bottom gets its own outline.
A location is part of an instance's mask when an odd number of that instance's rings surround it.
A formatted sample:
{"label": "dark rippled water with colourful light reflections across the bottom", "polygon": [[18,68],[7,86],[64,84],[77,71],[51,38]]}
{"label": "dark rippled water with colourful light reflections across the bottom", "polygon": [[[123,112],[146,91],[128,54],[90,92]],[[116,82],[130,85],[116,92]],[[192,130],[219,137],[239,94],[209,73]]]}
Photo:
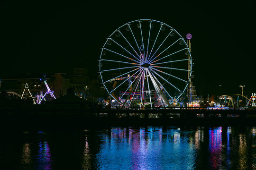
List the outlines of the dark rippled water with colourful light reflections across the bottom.
{"label": "dark rippled water with colourful light reflections across the bottom", "polygon": [[0,170],[256,170],[256,127],[1,130]]}

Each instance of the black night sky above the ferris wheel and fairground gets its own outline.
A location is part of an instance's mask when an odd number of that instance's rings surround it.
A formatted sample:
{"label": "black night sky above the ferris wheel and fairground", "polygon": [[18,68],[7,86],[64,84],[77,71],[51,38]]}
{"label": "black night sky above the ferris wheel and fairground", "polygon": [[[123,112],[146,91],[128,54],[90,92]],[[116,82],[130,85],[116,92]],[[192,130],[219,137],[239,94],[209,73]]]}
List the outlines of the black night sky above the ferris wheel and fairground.
{"label": "black night sky above the ferris wheel and fairground", "polygon": [[1,2],[0,77],[83,67],[97,78],[106,38],[119,26],[145,18],[162,21],[183,37],[192,34],[198,95],[238,94],[239,85],[246,85],[250,95],[256,93],[255,11],[254,1]]}

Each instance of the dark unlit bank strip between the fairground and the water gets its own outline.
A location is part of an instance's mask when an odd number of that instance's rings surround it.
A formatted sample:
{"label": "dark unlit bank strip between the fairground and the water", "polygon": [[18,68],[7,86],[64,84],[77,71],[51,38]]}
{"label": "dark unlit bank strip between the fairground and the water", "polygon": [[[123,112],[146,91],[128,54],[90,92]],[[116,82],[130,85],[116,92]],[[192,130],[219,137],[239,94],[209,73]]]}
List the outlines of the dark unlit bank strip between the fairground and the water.
{"label": "dark unlit bank strip between the fairground and the water", "polygon": [[255,109],[97,108],[92,106],[28,105],[0,108],[1,126],[256,126]]}

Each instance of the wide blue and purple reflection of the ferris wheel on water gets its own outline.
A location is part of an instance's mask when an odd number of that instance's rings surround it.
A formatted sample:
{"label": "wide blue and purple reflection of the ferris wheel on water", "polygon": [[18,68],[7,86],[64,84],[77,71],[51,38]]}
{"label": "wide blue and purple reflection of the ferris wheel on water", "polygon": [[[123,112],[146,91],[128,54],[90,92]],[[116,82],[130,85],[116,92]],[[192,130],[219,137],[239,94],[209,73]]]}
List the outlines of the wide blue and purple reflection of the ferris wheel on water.
{"label": "wide blue and purple reflection of the ferris wheel on water", "polygon": [[101,135],[100,170],[192,170],[196,149],[187,131],[162,127],[112,128]]}

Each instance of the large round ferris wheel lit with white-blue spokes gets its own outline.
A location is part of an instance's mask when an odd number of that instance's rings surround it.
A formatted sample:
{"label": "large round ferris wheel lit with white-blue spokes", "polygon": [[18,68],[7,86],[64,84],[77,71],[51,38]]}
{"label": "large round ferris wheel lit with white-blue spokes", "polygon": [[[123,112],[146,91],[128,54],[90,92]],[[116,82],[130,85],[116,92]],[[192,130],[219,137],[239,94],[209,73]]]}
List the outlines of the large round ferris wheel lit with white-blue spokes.
{"label": "large round ferris wheel lit with white-blue spokes", "polygon": [[107,38],[99,59],[101,81],[117,106],[171,106],[191,80],[192,57],[173,27],[139,19]]}

